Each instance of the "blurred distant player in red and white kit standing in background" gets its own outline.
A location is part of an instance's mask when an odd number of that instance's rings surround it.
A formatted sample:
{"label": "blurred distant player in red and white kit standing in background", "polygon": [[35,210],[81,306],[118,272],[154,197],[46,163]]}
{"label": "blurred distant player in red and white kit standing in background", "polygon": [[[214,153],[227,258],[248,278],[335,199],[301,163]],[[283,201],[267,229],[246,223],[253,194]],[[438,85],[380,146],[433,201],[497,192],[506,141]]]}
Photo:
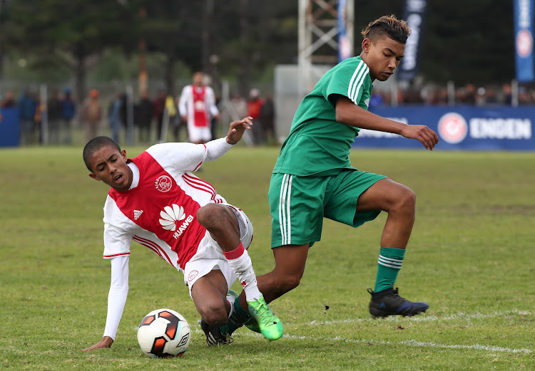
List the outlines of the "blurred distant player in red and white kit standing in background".
{"label": "blurred distant player in red and white kit standing in background", "polygon": [[180,116],[184,122],[188,122],[189,140],[195,144],[212,139],[212,117],[219,118],[214,91],[205,85],[204,78],[202,72],[193,73],[193,84],[183,88],[178,100]]}

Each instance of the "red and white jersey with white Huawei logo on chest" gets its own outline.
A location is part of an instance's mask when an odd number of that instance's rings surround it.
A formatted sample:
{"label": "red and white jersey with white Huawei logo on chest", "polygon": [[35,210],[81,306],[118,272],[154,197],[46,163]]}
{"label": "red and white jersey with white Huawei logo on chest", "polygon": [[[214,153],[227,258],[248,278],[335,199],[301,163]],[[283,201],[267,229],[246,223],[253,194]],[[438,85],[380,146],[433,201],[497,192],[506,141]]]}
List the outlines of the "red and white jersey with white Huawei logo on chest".
{"label": "red and white jersey with white Huawei logo on chest", "polygon": [[205,145],[164,143],[128,160],[139,169],[138,185],[108,193],[104,258],[129,255],[133,240],[183,271],[206,234],[197,210],[225,202],[211,184],[191,173],[206,157]]}

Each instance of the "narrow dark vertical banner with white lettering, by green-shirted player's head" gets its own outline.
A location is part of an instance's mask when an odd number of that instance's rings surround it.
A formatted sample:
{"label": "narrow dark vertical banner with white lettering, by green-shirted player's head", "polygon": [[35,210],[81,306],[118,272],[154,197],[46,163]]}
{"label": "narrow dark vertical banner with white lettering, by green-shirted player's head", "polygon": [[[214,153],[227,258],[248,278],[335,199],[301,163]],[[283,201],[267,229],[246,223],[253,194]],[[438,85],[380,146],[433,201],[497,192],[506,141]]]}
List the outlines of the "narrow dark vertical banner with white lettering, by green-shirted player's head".
{"label": "narrow dark vertical banner with white lettering, by green-shirted player's head", "polygon": [[412,33],[407,38],[404,57],[397,67],[397,80],[412,80],[418,73],[426,8],[427,0],[405,0],[403,19]]}

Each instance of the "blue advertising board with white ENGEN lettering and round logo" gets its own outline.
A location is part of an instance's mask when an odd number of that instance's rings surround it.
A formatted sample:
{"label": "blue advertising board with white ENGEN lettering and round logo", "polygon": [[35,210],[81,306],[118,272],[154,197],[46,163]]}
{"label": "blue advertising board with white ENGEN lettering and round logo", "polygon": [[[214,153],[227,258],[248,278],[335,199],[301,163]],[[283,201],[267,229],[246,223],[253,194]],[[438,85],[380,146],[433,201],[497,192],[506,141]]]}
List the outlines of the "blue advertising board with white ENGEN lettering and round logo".
{"label": "blue advertising board with white ENGEN lettering and round logo", "polygon": [[[427,125],[439,135],[435,150],[535,150],[533,106],[406,106],[370,111],[399,122]],[[397,134],[361,130],[353,147],[422,148],[422,144]]]}

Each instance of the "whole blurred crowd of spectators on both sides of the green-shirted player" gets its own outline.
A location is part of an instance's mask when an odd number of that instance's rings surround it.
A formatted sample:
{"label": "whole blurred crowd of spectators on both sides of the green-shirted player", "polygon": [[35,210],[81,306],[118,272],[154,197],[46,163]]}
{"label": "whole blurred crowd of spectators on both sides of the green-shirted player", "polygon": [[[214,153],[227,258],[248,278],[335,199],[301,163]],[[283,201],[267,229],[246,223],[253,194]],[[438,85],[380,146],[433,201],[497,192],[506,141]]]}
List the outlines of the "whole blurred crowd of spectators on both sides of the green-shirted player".
{"label": "whole blurred crowd of spectators on both sides of the green-shirted player", "polygon": [[[535,89],[528,85],[519,85],[516,95],[513,90],[510,83],[486,87],[468,83],[457,88],[398,86],[394,91],[375,89],[370,99],[370,109],[389,105],[535,105]],[[392,97],[394,92],[395,96]],[[220,98],[216,98],[219,102]],[[126,138],[128,120],[132,120],[138,133],[136,140],[140,143],[150,143],[161,140],[163,113],[166,105],[170,103],[174,104],[174,107],[170,109],[172,115],[169,117],[169,133],[173,140],[188,140],[187,130],[181,130],[185,129],[185,122],[176,114],[178,110],[175,103],[178,97],[172,97],[167,90],[159,89],[153,98],[147,91],[143,91],[138,100],[132,100],[124,92],[102,98],[98,90],[91,89],[88,96],[77,104],[71,89],[64,88],[62,91],[52,91],[48,101],[41,102],[38,93],[25,88],[18,99],[12,91],[7,91],[0,100],[0,108],[18,108],[21,145],[44,142],[54,145],[70,144],[73,142],[73,128],[76,127],[85,132],[86,139],[106,129],[116,142],[121,142],[122,138]],[[263,145],[275,141],[275,105],[270,94],[262,96],[260,90],[253,88],[247,97],[233,93],[229,103],[226,107],[230,107],[236,117],[251,116],[255,120],[251,144]],[[127,108],[128,105],[131,109]],[[42,130],[45,117],[48,123],[46,141]],[[217,121],[216,117],[213,117],[213,137],[218,135],[215,133]],[[180,135],[183,131],[186,131],[185,136]]]}

